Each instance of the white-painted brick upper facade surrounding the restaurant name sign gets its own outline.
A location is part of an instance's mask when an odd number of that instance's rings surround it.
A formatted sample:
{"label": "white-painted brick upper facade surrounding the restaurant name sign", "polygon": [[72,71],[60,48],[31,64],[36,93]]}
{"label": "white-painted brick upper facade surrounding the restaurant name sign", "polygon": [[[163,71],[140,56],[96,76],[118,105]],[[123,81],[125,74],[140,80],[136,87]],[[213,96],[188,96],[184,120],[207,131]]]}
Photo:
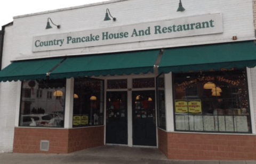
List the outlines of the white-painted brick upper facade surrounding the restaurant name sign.
{"label": "white-painted brick upper facade surrounding the restaurant name sign", "polygon": [[[126,51],[137,49],[150,49],[159,47],[177,47],[212,42],[232,41],[233,36],[238,40],[254,38],[252,0],[182,0],[184,12],[176,12],[179,1],[177,0],[126,0],[117,3],[100,3],[94,6],[84,6],[74,10],[59,12],[46,12],[37,15],[17,16],[14,18],[14,40],[19,50],[14,58],[49,57],[70,54],[96,54],[111,51]],[[103,21],[106,8],[117,21]],[[141,41],[127,44],[75,48],[69,50],[54,50],[32,53],[33,36],[45,34],[66,33],[116,27],[127,24],[181,18],[184,16],[222,12],[223,33],[204,36],[163,39],[157,41]],[[45,30],[47,18],[55,24],[60,24],[61,29],[53,27]]]}

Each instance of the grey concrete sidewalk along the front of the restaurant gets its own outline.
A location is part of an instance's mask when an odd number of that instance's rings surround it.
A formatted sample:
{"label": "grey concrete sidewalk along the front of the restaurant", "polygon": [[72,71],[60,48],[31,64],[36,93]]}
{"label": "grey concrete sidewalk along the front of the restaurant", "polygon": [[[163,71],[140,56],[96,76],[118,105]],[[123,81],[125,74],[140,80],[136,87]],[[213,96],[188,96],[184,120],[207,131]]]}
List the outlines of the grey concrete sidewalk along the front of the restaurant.
{"label": "grey concrete sidewalk along the front of the restaurant", "polygon": [[137,163],[171,163],[171,164],[256,164],[256,161],[180,161],[168,160],[158,149],[130,148],[126,146],[100,146],[70,154],[20,154],[0,153],[0,164],[137,164]]}

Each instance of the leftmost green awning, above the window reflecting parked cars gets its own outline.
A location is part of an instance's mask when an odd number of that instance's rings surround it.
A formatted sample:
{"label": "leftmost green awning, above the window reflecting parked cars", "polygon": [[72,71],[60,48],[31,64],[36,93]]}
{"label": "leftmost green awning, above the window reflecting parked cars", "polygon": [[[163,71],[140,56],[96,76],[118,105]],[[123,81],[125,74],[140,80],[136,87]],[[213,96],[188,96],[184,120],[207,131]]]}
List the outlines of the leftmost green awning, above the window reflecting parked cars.
{"label": "leftmost green awning, above the window reflecting parked cars", "polygon": [[0,82],[46,79],[46,73],[62,60],[63,58],[51,58],[13,62],[0,71]]}

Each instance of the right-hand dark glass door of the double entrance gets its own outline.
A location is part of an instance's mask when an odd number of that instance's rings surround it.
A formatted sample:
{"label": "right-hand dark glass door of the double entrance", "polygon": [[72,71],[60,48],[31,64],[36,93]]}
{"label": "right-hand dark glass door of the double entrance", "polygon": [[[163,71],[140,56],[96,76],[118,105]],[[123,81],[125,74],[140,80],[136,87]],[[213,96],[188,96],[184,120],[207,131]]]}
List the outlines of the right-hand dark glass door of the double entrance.
{"label": "right-hand dark glass door of the double entrance", "polygon": [[156,146],[155,91],[132,92],[133,145]]}

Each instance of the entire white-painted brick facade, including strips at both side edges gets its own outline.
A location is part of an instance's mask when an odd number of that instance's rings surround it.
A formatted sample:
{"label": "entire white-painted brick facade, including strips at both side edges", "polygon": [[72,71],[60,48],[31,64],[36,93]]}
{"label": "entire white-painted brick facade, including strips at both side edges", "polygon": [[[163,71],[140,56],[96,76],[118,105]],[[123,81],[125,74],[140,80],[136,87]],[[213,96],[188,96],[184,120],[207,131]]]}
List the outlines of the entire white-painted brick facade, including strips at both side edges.
{"label": "entire white-painted brick facade, including strips at both side edges", "polygon": [[[231,41],[233,36],[237,36],[238,40],[254,38],[252,0],[182,0],[182,4],[186,8],[185,12],[176,12],[179,5],[178,0],[125,0],[16,16],[13,26],[6,27],[2,68],[9,65],[10,61],[22,58],[211,44]],[[111,15],[117,18],[116,22],[103,21],[106,8],[109,8]],[[223,15],[224,32],[221,34],[32,53],[34,36],[115,27],[215,12],[222,12]],[[45,30],[49,17],[55,24],[61,24],[61,29],[53,27]],[[253,100],[255,99],[254,106],[256,105],[255,74],[256,69],[253,68],[251,76]],[[17,82],[0,83],[0,152],[12,151],[17,92],[20,92],[17,91]]]}

